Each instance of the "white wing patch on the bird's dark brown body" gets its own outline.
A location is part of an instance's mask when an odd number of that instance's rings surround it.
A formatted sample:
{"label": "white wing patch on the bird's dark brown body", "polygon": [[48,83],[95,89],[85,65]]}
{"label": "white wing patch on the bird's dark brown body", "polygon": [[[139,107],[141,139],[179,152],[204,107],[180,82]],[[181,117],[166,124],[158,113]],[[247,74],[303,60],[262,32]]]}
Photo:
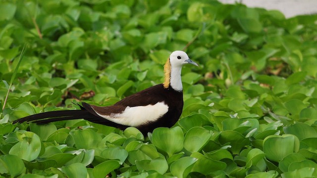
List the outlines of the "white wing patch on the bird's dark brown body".
{"label": "white wing patch on the bird's dark brown body", "polygon": [[155,105],[149,104],[146,106],[127,106],[122,113],[101,115],[99,116],[117,124],[137,127],[147,122],[153,122],[167,113],[168,106],[164,102],[158,102]]}

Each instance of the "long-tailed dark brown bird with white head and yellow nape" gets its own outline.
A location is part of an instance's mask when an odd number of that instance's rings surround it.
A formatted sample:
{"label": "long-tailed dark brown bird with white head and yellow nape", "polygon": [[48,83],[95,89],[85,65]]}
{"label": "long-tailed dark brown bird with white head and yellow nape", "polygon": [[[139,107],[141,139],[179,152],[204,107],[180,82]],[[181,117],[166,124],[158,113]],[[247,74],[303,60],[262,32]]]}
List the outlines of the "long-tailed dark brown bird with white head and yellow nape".
{"label": "long-tailed dark brown bird with white head and yellow nape", "polygon": [[146,135],[159,127],[172,127],[183,110],[182,66],[193,64],[186,52],[176,50],[164,65],[164,82],[123,98],[111,106],[96,106],[81,102],[80,110],[59,110],[38,113],[13,121],[13,124],[85,119],[87,121],[125,130],[137,128]]}

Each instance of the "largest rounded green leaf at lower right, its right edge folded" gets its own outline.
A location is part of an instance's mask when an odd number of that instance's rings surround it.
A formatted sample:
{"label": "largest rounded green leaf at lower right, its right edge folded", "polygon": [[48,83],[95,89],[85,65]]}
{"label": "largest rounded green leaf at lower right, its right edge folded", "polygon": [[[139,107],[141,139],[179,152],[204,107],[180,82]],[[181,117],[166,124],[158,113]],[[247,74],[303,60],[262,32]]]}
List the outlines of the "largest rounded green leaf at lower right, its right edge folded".
{"label": "largest rounded green leaf at lower right, its right edge folded", "polygon": [[287,155],[297,152],[299,144],[299,139],[292,134],[270,135],[263,141],[263,151],[267,159],[279,162]]}

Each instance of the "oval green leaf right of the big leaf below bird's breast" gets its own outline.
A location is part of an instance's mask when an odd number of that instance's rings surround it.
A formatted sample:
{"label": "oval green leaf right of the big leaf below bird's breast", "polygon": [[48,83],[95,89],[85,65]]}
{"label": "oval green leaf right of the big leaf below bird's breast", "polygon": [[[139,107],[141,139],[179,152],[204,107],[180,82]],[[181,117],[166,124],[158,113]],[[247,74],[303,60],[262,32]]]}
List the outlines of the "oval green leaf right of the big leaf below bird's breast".
{"label": "oval green leaf right of the big leaf below bird's breast", "polygon": [[211,134],[212,131],[200,127],[190,129],[184,138],[184,148],[192,153],[200,151],[208,143]]}

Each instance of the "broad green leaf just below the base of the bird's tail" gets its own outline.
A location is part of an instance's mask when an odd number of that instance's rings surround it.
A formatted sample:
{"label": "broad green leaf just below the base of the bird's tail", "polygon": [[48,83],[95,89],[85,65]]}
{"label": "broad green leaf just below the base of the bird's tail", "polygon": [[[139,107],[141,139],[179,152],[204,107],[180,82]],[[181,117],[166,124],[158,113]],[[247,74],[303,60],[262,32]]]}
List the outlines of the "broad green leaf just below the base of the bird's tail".
{"label": "broad green leaf just below the base of the bird's tail", "polygon": [[75,130],[69,134],[74,138],[77,148],[91,149],[98,147],[102,142],[101,136],[91,129]]}

